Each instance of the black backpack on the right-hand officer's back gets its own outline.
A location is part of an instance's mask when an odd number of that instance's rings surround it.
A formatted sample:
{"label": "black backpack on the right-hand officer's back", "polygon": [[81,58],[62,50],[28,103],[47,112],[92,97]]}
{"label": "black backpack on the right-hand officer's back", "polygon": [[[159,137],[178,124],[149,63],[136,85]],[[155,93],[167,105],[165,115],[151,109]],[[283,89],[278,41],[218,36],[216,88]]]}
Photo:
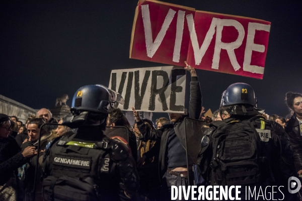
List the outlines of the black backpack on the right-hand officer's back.
{"label": "black backpack on the right-hand officer's back", "polygon": [[262,147],[252,124],[249,121],[226,119],[212,122],[210,126],[215,127],[208,136],[209,146],[212,148],[210,184],[260,184]]}

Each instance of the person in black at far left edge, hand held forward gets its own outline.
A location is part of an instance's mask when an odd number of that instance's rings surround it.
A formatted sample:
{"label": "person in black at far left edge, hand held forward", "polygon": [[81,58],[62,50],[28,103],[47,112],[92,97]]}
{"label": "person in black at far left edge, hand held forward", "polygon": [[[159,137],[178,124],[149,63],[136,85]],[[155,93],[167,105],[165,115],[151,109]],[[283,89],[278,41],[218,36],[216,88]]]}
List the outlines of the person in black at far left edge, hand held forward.
{"label": "person in black at far left edge, hand held forward", "polygon": [[16,200],[15,170],[27,162],[26,158],[37,154],[35,147],[27,147],[20,152],[15,139],[9,135],[9,116],[0,114],[0,200]]}

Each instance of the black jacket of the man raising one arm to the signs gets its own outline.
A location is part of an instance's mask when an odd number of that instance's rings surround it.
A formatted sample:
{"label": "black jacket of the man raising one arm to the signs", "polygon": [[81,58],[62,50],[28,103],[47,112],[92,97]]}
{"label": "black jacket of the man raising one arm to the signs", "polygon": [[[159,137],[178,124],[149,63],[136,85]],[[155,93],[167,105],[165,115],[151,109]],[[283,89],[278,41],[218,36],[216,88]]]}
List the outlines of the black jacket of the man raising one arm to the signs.
{"label": "black jacket of the man raising one arm to the signs", "polygon": [[[200,84],[198,77],[192,77],[190,83],[190,103],[189,103],[189,117],[192,119],[198,119],[202,106],[202,96],[200,90]],[[183,119],[176,124],[166,124],[159,130],[150,130],[142,121],[137,122],[137,128],[145,139],[149,140],[161,140],[161,148],[159,155],[159,168],[160,176],[165,174],[168,168],[168,152],[167,143],[170,131],[175,129],[177,137],[180,139],[181,144],[185,147],[185,127]]]}

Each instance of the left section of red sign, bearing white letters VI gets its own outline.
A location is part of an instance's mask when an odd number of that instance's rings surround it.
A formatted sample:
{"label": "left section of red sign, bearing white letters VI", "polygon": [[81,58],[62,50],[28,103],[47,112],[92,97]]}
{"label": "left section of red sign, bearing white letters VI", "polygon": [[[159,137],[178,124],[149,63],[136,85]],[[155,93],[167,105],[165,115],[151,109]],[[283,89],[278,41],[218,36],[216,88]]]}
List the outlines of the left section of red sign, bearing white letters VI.
{"label": "left section of red sign, bearing white letters VI", "polygon": [[189,7],[140,1],[133,22],[130,58],[182,65],[190,41],[185,15],[194,12]]}

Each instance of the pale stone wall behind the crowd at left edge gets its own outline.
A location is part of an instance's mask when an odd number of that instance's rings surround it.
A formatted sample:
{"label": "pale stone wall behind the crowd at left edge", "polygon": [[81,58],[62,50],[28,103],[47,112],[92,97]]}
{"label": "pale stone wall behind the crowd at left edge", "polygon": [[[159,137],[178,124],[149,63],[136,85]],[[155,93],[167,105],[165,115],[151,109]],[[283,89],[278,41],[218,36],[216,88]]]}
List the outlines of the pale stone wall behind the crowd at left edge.
{"label": "pale stone wall behind the crowd at left edge", "polygon": [[16,116],[25,124],[28,117],[36,115],[37,110],[25,106],[11,98],[0,95],[0,113]]}

